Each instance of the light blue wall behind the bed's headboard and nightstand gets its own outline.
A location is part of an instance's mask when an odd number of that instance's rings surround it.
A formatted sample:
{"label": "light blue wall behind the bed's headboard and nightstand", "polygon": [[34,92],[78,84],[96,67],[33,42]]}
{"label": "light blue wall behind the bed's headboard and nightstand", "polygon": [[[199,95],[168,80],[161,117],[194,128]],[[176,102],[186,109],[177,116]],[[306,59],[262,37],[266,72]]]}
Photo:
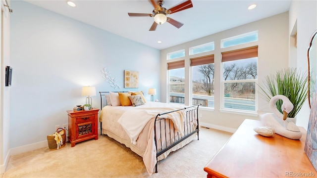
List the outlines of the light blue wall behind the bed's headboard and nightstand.
{"label": "light blue wall behind the bed's headboard and nightstand", "polygon": [[[11,1],[10,148],[46,141],[66,110],[84,104],[83,86],[98,91],[156,88],[159,50],[59,15],[24,1]],[[103,78],[106,67],[121,89]],[[123,88],[123,71],[139,71],[139,88]]]}

